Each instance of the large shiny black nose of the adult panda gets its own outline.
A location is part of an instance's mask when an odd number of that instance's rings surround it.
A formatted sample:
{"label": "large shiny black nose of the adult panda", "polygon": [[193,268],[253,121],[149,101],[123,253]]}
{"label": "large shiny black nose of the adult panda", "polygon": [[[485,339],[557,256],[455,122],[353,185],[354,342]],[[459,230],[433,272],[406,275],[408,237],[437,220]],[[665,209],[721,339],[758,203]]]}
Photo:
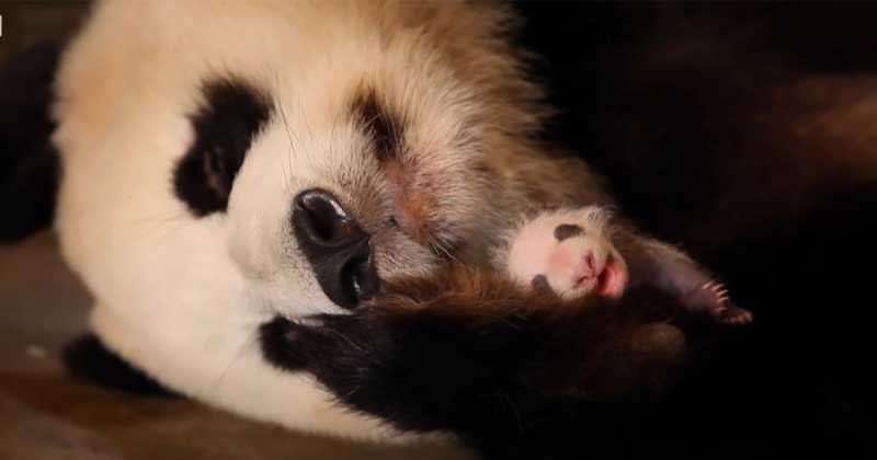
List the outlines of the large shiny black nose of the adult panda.
{"label": "large shiny black nose of the adult panda", "polygon": [[318,188],[295,197],[293,229],[329,300],[353,308],[377,292],[380,279],[368,233],[332,194]]}

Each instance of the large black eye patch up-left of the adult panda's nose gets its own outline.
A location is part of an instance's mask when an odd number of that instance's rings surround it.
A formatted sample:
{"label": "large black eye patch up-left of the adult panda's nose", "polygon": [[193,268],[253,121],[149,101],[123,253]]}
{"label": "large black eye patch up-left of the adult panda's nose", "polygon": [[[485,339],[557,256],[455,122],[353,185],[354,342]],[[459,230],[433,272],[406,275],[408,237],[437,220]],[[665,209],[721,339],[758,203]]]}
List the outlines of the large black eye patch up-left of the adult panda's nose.
{"label": "large black eye patch up-left of the adult panda's nose", "polygon": [[174,173],[174,192],[195,216],[225,211],[253,139],[271,118],[267,95],[236,79],[206,82],[190,118],[195,139]]}

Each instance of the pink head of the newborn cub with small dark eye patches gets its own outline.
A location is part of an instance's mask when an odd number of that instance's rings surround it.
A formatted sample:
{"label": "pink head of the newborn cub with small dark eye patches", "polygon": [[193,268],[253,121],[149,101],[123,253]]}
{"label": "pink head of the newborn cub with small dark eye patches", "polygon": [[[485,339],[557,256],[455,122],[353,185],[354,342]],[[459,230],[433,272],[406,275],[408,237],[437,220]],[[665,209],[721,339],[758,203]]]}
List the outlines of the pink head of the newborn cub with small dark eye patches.
{"label": "pink head of the newborn cub with small dark eye patches", "polygon": [[605,232],[599,208],[549,211],[526,222],[511,240],[506,268],[519,281],[572,299],[588,294],[618,298],[627,264]]}

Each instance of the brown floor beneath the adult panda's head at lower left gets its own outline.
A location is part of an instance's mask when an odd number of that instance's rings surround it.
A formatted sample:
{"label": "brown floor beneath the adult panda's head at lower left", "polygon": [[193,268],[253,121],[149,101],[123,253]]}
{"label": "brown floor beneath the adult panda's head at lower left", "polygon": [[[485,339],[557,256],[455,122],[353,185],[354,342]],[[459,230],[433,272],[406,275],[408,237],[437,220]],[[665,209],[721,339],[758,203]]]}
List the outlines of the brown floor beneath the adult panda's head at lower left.
{"label": "brown floor beneath the adult panda's head at lower left", "polygon": [[185,400],[68,378],[58,352],[84,330],[89,297],[50,233],[0,245],[0,459],[455,459],[438,446],[388,448],[305,436]]}

